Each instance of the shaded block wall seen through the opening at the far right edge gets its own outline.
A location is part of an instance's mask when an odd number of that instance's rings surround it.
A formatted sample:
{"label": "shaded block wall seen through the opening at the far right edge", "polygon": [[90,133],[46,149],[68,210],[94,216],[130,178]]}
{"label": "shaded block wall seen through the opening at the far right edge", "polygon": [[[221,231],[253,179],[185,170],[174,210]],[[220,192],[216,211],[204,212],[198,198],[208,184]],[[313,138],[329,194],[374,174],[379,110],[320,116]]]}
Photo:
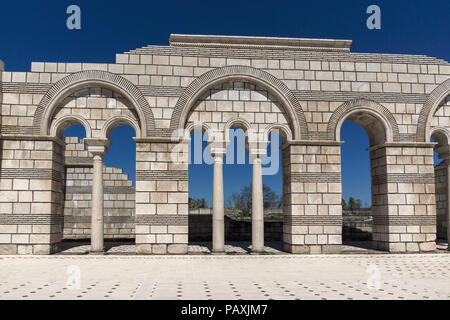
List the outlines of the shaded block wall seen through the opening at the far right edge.
{"label": "shaded block wall seen through the opening at the far right edge", "polygon": [[447,239],[447,164],[442,162],[434,169],[436,179],[437,238]]}

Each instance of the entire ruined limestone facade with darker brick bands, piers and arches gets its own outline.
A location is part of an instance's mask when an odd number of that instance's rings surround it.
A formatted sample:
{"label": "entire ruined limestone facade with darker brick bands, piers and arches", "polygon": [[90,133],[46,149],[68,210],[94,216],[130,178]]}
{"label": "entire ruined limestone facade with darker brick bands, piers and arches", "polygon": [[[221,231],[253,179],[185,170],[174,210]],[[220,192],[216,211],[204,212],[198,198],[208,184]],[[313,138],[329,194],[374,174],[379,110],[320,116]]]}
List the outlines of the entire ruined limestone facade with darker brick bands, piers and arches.
{"label": "entire ruined limestone facade with darker brick bands, piers and arches", "polygon": [[[281,129],[285,250],[339,252],[346,120],[370,138],[377,248],[433,251],[430,136],[450,137],[450,64],[350,47],[346,40],[173,35],[169,46],[118,54],[111,64],[33,62],[29,72],[1,72],[0,251],[58,251],[64,165],[73,160],[64,161],[62,132],[78,123],[93,149],[107,145],[118,125],[136,130],[137,252],[186,253],[188,145],[183,161],[171,151],[182,142],[177,129],[203,121],[202,129],[223,138],[227,126],[255,129],[253,145]],[[75,167],[92,157],[83,161]]]}

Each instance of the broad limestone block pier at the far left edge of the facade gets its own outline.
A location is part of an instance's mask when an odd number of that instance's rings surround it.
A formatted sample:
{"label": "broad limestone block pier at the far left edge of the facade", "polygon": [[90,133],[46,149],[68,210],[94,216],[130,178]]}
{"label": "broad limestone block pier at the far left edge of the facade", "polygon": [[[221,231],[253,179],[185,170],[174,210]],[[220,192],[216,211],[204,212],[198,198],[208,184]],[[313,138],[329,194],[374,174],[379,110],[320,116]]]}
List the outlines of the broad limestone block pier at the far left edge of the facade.
{"label": "broad limestone block pier at the far left edge of the facade", "polygon": [[0,167],[1,254],[51,254],[61,241],[63,144],[3,139]]}

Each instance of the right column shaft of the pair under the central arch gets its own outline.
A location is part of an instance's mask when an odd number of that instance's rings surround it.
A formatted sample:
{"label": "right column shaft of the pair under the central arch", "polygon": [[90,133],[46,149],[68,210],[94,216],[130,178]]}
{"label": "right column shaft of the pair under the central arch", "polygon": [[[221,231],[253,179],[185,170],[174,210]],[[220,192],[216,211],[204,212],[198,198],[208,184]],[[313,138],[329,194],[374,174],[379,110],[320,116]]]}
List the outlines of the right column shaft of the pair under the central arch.
{"label": "right column shaft of the pair under the central arch", "polygon": [[252,251],[264,251],[264,199],[261,158],[253,160],[252,183]]}

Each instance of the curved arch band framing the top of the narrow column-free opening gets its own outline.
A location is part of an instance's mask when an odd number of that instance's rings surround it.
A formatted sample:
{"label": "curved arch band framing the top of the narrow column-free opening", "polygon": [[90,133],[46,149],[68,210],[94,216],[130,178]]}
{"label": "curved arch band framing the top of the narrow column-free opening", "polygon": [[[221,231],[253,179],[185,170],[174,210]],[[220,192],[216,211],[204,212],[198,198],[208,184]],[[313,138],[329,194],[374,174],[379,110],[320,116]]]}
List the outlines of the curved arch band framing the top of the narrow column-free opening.
{"label": "curved arch band framing the top of the narrow column-free opening", "polygon": [[[389,112],[386,107],[381,104],[366,100],[366,99],[355,99],[348,101],[341,105],[331,116],[328,122],[327,136],[329,140],[339,140],[340,139],[340,127],[345,119],[350,115],[361,113],[367,114],[368,116],[375,117],[380,124],[383,126],[385,141],[394,142],[400,141],[400,133],[398,129],[397,121],[391,112]],[[366,129],[366,128],[365,128]],[[367,131],[367,129],[366,129]],[[368,132],[369,133],[369,132]],[[373,137],[370,137],[373,139]]]}

